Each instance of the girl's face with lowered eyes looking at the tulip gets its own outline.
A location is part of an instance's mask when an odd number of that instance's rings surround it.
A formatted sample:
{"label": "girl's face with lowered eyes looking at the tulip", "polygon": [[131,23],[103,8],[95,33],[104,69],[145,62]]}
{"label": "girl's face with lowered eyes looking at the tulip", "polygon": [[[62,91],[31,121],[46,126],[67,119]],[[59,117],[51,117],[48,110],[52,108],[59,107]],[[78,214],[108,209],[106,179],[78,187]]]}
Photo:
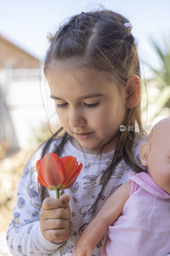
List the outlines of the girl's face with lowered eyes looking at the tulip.
{"label": "girl's face with lowered eyes looking at the tulip", "polygon": [[[122,89],[120,96],[106,73],[89,69],[71,72],[68,69],[61,72],[58,68],[55,75],[47,74],[51,98],[55,100],[60,124],[73,137],[71,143],[79,150],[82,147],[85,153],[97,154],[123,123],[127,111],[127,107],[122,105],[125,92]],[[90,97],[91,94],[96,94],[96,97]],[[83,140],[76,134],[81,132],[93,133],[90,138]],[[115,149],[116,140],[111,140],[102,153]]]}

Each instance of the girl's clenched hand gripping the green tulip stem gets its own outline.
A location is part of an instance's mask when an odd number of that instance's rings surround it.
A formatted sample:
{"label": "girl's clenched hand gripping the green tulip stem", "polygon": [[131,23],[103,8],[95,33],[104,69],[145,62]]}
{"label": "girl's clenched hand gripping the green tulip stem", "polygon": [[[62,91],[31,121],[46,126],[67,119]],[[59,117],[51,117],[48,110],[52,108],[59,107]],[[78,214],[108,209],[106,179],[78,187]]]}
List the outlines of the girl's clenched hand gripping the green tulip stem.
{"label": "girl's clenched hand gripping the green tulip stem", "polygon": [[46,240],[60,244],[68,238],[71,220],[69,202],[70,196],[66,194],[60,199],[47,197],[42,202],[40,229]]}

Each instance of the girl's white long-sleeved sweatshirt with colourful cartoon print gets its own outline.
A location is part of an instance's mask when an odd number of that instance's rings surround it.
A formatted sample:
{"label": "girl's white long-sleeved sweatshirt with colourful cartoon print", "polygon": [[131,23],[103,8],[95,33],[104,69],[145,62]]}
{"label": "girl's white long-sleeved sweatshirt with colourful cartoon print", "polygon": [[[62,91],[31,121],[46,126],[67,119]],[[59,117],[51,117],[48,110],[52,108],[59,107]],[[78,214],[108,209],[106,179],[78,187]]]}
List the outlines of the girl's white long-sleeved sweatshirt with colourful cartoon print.
{"label": "girl's white long-sleeved sweatshirt with colourful cartoon print", "polygon": [[[133,155],[141,168],[147,171],[147,166],[143,166],[140,162],[139,150],[141,145],[146,142],[148,135],[141,135],[139,132],[135,134]],[[53,152],[60,141],[61,138],[55,139],[54,142],[51,143],[48,152]],[[55,147],[54,143],[56,145]],[[102,186],[100,177],[102,172],[110,164],[115,152],[115,150],[112,150],[106,154],[102,154],[101,161],[100,154],[96,158],[96,155],[85,153],[84,158],[83,152],[75,148],[70,140],[67,140],[63,148],[62,157],[74,156],[77,158],[78,164],[82,163],[83,167],[72,187],[60,191],[60,193],[62,192],[70,196],[70,235],[63,243],[54,244],[46,240],[40,230],[39,213],[42,205],[38,189],[38,174],[35,165],[37,160],[41,158],[43,147],[44,143],[31,156],[18,184],[17,202],[12,211],[14,218],[9,223],[6,237],[10,252],[14,256],[21,254],[23,256],[47,256],[49,254],[51,254],[51,256],[69,256],[76,250],[80,235],[93,219],[92,212],[88,212],[88,209],[92,206],[100,192]],[[123,183],[129,181],[129,170],[130,168],[124,160],[117,165],[115,174],[111,176],[100,196],[95,215],[100,211],[109,196]],[[48,192],[47,197],[56,198],[55,191],[51,191],[48,188],[46,189]],[[104,236],[93,249],[93,256],[101,255],[103,239]]]}

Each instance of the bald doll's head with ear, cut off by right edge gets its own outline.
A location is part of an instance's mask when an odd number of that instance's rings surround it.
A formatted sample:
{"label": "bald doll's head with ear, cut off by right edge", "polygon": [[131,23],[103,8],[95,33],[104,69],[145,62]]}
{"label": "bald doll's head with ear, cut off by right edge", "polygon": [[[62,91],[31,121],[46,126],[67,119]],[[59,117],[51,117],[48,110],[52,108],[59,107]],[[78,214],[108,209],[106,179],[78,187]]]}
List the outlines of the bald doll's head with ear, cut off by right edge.
{"label": "bald doll's head with ear, cut off by right edge", "polygon": [[170,116],[155,124],[139,156],[154,182],[170,194]]}

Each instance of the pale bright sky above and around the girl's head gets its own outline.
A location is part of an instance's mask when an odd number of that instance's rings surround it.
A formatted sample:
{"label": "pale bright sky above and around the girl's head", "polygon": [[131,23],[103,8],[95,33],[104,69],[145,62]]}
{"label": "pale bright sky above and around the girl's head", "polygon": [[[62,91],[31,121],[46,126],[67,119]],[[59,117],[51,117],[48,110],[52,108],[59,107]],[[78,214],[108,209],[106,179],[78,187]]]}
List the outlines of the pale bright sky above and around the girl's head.
{"label": "pale bright sky above and around the girl's head", "polygon": [[49,46],[46,38],[48,32],[54,33],[70,16],[95,11],[100,5],[122,14],[130,21],[142,76],[150,78],[152,73],[147,62],[156,69],[161,68],[150,36],[166,52],[164,41],[170,42],[170,0],[2,0],[0,34],[42,60]]}

